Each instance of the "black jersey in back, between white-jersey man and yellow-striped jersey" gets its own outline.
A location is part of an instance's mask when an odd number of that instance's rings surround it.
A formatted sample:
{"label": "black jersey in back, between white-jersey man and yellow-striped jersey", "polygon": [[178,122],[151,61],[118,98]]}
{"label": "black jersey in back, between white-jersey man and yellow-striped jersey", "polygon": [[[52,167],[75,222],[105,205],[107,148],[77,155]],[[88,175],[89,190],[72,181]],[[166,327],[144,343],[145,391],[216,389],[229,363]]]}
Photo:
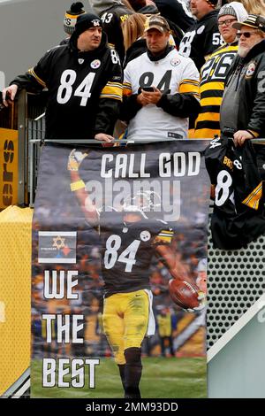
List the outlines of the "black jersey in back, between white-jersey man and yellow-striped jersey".
{"label": "black jersey in back, between white-jersey man and yellow-striped jersey", "polygon": [[209,12],[202,19],[189,27],[179,46],[179,53],[192,58],[198,70],[205,63],[205,57],[216,50],[222,43],[217,25],[217,11]]}

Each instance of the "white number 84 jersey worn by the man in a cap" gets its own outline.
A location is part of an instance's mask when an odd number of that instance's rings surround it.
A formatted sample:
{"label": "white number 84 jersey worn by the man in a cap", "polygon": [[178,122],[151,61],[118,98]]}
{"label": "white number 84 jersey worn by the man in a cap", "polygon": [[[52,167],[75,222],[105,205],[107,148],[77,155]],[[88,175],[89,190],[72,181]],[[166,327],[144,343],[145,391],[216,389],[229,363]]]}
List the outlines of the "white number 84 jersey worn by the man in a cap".
{"label": "white number 84 jersey worn by the man in a cap", "polygon": [[[170,50],[165,58],[151,61],[147,53],[125,67],[124,95],[139,94],[143,87],[155,86],[163,94],[192,93],[197,89],[199,73],[191,58]],[[188,119],[164,112],[155,104],[140,108],[128,126],[128,139],[187,138]]]}

